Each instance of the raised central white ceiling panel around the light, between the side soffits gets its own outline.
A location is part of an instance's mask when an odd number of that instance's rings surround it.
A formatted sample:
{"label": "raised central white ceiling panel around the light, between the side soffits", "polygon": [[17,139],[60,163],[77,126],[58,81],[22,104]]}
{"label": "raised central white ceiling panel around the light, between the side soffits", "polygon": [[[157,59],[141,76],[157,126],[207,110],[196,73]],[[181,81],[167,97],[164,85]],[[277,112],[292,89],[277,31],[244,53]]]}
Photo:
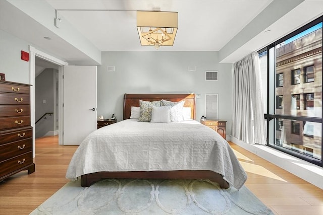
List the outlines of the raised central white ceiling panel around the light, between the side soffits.
{"label": "raised central white ceiling panel around the light, between the side soffits", "polygon": [[[136,28],[136,10],[178,12],[173,47],[160,51],[219,51],[273,0],[46,0],[100,51],[142,51]],[[252,10],[250,10],[252,8]],[[121,10],[121,11],[95,11]],[[125,10],[125,11],[122,11]],[[133,10],[133,11],[128,11]]]}

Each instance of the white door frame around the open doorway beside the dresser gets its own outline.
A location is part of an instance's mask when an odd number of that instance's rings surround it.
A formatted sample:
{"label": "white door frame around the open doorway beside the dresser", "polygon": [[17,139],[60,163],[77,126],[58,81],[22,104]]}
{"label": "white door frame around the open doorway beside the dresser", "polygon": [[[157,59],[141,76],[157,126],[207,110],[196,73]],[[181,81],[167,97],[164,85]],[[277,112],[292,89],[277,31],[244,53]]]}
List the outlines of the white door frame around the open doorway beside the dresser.
{"label": "white door frame around the open doorway beside the dresser", "polygon": [[33,158],[35,157],[35,56],[47,60],[51,63],[59,65],[59,145],[63,145],[63,66],[68,65],[67,62],[53,57],[45,52],[42,52],[33,46],[29,45],[30,52],[30,64],[29,64],[29,83],[30,87],[30,124],[33,127],[32,130],[32,147],[33,147]]}

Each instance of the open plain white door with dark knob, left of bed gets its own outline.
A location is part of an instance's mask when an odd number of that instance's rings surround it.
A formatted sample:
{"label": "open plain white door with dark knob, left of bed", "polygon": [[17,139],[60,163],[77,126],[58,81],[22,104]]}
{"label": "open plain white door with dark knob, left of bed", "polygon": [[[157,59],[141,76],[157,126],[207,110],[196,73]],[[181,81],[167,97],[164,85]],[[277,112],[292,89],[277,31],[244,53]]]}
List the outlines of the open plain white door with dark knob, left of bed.
{"label": "open plain white door with dark knob, left of bed", "polygon": [[96,129],[96,66],[64,66],[63,145],[80,145]]}

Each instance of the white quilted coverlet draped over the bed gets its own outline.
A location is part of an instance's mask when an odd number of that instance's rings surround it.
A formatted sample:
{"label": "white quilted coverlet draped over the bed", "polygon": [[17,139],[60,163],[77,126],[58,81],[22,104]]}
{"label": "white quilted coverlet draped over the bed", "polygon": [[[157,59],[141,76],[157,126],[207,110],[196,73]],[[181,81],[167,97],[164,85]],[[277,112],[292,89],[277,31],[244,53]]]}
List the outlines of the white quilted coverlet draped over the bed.
{"label": "white quilted coverlet draped over the bed", "polygon": [[239,189],[247,175],[228,142],[197,121],[149,123],[127,119],[90,133],[66,177],[100,171],[211,170]]}

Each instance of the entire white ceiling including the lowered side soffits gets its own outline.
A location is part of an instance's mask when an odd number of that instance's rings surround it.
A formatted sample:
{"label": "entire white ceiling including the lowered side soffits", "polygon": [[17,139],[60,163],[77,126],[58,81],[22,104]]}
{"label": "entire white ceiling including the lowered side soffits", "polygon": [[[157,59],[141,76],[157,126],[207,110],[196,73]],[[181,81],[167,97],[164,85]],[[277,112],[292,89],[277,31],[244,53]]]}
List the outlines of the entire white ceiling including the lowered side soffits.
{"label": "entire white ceiling including the lowered side soffits", "polygon": [[[136,10],[153,8],[178,12],[174,46],[140,45]],[[53,9],[76,34],[54,26]],[[72,65],[100,64],[99,51],[219,51],[235,62],[322,14],[323,0],[0,0],[0,29]]]}

